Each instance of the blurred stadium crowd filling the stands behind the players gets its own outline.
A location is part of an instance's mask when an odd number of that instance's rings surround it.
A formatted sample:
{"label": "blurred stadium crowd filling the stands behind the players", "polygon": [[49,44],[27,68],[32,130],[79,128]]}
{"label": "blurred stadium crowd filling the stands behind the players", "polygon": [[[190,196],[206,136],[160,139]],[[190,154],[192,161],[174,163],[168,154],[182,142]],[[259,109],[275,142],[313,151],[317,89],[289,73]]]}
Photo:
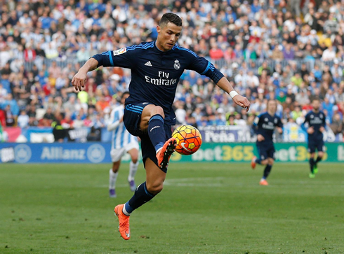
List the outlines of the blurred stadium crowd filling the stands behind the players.
{"label": "blurred stadium crowd filling the stands behind the players", "polygon": [[130,71],[93,71],[79,93],[72,76],[96,53],[153,41],[168,11],[183,18],[179,45],[215,63],[251,101],[246,113],[211,80],[185,71],[179,123],[251,125],[272,98],[284,123],[300,124],[319,97],[329,127],[343,132],[344,3],[335,0],[2,1],[1,125],[105,127]]}

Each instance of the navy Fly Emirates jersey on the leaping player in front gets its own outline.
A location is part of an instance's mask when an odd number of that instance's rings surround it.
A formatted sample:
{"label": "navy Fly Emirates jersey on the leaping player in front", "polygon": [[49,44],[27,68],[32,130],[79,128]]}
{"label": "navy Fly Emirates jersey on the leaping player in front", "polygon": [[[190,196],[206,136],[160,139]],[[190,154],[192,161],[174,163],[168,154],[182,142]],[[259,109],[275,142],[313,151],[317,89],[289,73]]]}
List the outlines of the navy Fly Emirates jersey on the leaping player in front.
{"label": "navy Fly Emirates jersey on the leaping player in front", "polygon": [[155,42],[141,43],[119,50],[94,55],[98,66],[119,66],[131,69],[130,96],[126,104],[150,103],[164,109],[165,121],[175,125],[172,104],[180,76],[185,69],[209,76],[215,83],[223,77],[208,60],[191,50],[174,45],[163,52]]}

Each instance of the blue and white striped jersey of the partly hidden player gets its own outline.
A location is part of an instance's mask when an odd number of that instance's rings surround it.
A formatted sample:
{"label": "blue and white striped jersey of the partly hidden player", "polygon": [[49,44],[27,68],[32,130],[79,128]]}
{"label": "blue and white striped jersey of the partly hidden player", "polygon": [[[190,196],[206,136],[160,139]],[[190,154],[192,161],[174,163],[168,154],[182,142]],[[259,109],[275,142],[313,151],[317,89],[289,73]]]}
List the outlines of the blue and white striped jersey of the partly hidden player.
{"label": "blue and white striped jersey of the partly hidden player", "polygon": [[131,135],[124,126],[124,122],[119,122],[124,115],[124,105],[119,105],[111,111],[110,124],[107,130],[112,130],[112,149],[125,148],[129,143],[138,143],[138,138]]}

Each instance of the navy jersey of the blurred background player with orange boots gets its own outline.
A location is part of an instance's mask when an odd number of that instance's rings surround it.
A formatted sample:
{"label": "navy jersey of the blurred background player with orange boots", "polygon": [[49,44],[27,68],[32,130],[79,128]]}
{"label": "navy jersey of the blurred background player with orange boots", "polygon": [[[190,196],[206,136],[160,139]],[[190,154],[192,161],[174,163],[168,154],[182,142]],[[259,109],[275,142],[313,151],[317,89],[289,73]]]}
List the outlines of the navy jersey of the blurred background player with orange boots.
{"label": "navy jersey of the blurred background player with orange boots", "polygon": [[261,113],[253,122],[253,128],[255,128],[256,134],[263,135],[264,137],[264,141],[261,141],[260,143],[272,143],[274,127],[283,128],[281,118],[276,114],[270,115],[267,112]]}

